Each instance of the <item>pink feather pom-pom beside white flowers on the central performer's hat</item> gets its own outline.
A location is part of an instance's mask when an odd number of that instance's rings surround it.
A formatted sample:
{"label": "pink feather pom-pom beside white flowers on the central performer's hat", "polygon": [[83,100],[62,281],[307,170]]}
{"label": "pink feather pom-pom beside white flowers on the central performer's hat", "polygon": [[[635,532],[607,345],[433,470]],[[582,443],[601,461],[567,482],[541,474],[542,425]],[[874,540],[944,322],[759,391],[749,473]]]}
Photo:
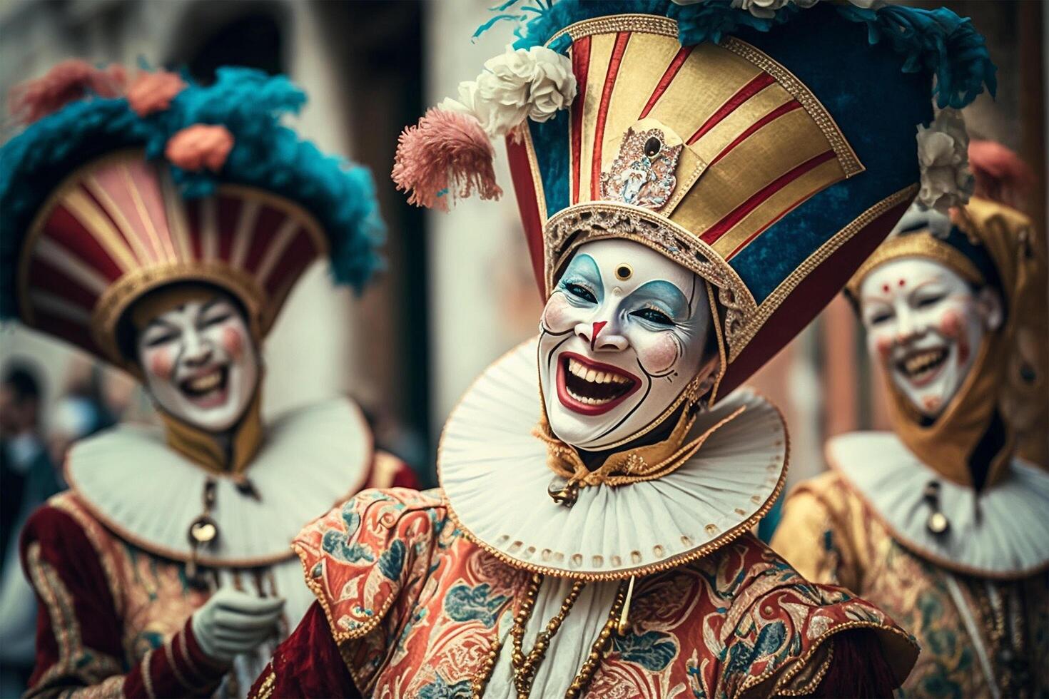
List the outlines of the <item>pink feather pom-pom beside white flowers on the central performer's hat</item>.
{"label": "pink feather pom-pom beside white flowers on the central performer's hat", "polygon": [[392,178],[398,190],[410,193],[408,203],[448,211],[448,199],[454,196],[502,195],[495,183],[494,156],[492,141],[476,118],[432,108],[401,133]]}

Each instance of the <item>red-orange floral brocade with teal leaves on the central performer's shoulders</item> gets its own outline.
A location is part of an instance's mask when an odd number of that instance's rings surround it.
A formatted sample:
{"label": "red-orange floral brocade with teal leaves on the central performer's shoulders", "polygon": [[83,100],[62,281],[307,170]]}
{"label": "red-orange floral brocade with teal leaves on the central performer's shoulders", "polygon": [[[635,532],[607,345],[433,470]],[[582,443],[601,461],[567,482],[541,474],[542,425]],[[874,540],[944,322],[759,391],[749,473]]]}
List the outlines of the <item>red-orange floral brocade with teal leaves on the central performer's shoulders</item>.
{"label": "red-orange floral brocade with teal leaves on the central performer's shoulders", "polygon": [[[376,697],[470,696],[531,578],[457,529],[440,490],[364,492],[307,526],[295,547],[354,682]],[[811,692],[833,661],[827,641],[852,630],[878,634],[898,681],[917,653],[876,608],[839,588],[809,585],[750,534],[639,577],[629,620],[588,696]],[[308,655],[288,648],[297,636],[278,650],[256,690],[282,696],[280,658]],[[849,636],[838,638],[847,643]]]}

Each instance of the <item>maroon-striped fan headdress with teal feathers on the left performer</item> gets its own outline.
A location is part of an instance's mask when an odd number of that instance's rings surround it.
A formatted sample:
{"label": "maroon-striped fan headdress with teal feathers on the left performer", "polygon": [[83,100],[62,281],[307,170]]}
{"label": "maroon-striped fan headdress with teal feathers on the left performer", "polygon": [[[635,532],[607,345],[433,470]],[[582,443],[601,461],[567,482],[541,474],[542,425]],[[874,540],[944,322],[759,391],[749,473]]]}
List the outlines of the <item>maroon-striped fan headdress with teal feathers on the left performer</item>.
{"label": "maroon-striped fan headdress with teal feathers on the left performer", "polygon": [[382,227],[370,174],[280,123],[305,94],[220,68],[204,87],[81,61],[16,88],[0,150],[0,314],[130,369],[117,338],[149,291],[202,282],[261,336],[315,259],[361,287]]}

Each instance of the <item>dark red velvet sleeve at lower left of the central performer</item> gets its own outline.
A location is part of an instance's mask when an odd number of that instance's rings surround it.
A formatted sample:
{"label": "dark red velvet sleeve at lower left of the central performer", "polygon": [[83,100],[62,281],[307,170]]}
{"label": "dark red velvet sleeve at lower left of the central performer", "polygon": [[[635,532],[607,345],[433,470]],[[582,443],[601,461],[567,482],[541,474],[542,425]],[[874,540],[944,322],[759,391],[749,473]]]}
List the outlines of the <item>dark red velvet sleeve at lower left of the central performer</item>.
{"label": "dark red velvet sleeve at lower left of the central performer", "polygon": [[339,654],[319,603],[314,603],[295,633],[277,647],[248,696],[253,699],[363,696]]}

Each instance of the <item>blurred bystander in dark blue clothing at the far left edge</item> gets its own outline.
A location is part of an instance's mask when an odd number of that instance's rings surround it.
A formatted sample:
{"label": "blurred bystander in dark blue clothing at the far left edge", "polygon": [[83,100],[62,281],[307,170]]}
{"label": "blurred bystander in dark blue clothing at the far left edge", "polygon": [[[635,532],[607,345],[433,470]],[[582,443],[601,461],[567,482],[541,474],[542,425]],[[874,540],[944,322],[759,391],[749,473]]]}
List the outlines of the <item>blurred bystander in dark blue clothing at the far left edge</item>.
{"label": "blurred bystander in dark blue clothing at the far left edge", "polygon": [[0,379],[0,697],[22,694],[35,657],[37,606],[18,536],[29,512],[59,490],[41,432],[39,375],[19,359]]}

